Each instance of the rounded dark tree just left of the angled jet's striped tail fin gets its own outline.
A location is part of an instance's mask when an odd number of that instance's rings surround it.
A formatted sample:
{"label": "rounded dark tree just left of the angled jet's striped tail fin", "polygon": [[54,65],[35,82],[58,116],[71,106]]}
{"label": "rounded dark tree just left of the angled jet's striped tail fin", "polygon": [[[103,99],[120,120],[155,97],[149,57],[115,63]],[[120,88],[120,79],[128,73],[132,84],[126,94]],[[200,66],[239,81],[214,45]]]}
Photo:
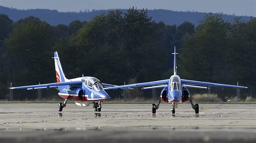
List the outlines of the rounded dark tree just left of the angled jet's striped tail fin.
{"label": "rounded dark tree just left of the angled jet's striped tail fin", "polygon": [[[9,81],[17,85],[50,82],[54,78],[51,27],[35,17],[17,21],[4,40],[9,65]],[[46,78],[47,77],[47,78]],[[54,76],[52,76],[54,77]]]}

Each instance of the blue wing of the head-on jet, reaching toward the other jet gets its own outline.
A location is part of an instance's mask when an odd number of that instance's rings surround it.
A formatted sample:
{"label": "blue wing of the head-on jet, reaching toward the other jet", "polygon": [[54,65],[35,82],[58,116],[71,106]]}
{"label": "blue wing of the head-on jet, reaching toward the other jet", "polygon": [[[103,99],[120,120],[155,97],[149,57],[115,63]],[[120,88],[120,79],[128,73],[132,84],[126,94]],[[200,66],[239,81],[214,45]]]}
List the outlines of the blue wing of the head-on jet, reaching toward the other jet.
{"label": "blue wing of the head-on jet, reaching toward the other jet", "polygon": [[121,86],[106,87],[104,89],[130,88],[130,87],[137,87],[137,86],[154,86],[154,85],[168,84],[168,82],[169,82],[169,79],[157,80],[153,82],[142,82],[137,84],[127,84],[127,85],[121,85]]}

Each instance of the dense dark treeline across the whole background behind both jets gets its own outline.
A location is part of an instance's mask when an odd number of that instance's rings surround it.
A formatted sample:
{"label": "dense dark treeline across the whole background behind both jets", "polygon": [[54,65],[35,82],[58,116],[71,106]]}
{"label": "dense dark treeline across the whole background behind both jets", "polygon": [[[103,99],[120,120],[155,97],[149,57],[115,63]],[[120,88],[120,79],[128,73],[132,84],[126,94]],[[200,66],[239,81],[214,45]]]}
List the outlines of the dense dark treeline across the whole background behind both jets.
{"label": "dense dark treeline across the whole background behind both jets", "polygon": [[[154,22],[147,11],[130,8],[126,13],[109,11],[91,21],[73,21],[51,26],[36,17],[13,22],[0,15],[0,99],[9,99],[13,86],[56,82],[54,51],[61,57],[67,78],[94,76],[104,83],[148,82],[167,79],[173,74],[174,46],[178,50],[181,78],[248,86],[243,97],[256,92],[256,19],[223,21],[220,14],[208,14],[195,28],[188,21],[181,25]],[[221,89],[220,89],[221,90]],[[233,92],[218,96],[235,96]],[[44,97],[56,91],[43,91]],[[111,98],[121,91],[110,92]],[[132,93],[133,92],[133,93]],[[132,91],[129,96],[151,91]],[[207,90],[195,90],[207,92]],[[136,93],[136,94],[134,94]],[[15,99],[35,99],[36,91],[15,90]],[[156,93],[158,96],[158,92]],[[148,96],[150,95],[150,97]]]}

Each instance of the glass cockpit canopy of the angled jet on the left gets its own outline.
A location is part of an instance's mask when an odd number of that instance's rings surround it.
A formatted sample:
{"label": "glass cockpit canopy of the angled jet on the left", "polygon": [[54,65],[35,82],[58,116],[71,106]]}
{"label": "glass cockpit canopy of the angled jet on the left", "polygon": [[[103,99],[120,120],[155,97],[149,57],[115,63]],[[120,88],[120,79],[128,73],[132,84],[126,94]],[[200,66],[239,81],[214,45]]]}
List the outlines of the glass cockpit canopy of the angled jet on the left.
{"label": "glass cockpit canopy of the angled jet on the left", "polygon": [[82,78],[82,82],[84,82],[89,88],[93,88],[94,90],[103,90],[102,84],[97,78],[86,76]]}

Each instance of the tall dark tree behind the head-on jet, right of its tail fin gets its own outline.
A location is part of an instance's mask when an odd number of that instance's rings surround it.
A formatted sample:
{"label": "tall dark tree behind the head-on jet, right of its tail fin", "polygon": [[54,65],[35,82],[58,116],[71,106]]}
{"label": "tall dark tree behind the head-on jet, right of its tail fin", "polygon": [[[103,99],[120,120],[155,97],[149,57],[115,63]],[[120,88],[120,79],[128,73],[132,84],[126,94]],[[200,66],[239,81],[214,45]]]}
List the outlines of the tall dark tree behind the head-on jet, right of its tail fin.
{"label": "tall dark tree behind the head-on jet, right of its tail fin", "polygon": [[185,36],[180,55],[184,77],[223,82],[230,56],[227,25],[219,13],[210,13],[200,21],[195,34]]}

